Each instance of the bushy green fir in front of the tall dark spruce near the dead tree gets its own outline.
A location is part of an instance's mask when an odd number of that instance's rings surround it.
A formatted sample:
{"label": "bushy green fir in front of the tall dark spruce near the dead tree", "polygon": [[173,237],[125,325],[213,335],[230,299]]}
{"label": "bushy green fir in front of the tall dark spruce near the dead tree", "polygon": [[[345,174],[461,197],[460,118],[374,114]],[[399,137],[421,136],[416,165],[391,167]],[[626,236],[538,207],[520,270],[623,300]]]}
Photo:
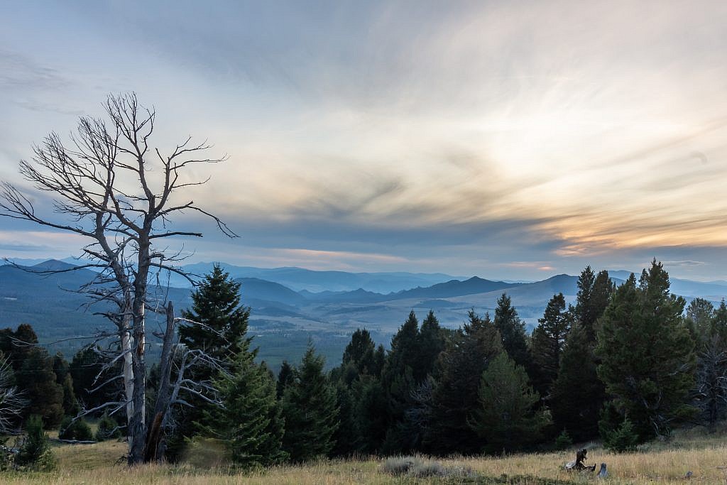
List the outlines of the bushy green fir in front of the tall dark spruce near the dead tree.
{"label": "bushy green fir in front of the tall dark spruce near the dead tree", "polygon": [[222,438],[233,462],[243,468],[281,463],[287,454],[281,450],[284,421],[276,400],[276,380],[265,364],[255,364],[252,353],[241,352],[232,374],[217,381],[225,407],[206,410],[204,430]]}

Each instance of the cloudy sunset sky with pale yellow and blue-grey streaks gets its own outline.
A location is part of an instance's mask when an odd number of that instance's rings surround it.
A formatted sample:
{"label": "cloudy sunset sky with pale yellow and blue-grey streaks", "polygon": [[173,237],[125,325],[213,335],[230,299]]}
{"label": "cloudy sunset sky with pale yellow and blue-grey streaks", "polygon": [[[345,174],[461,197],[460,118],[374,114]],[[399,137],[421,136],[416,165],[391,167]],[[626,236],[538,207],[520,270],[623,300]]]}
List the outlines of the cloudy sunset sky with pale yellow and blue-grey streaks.
{"label": "cloudy sunset sky with pale yellow and blue-grey streaks", "polygon": [[[33,194],[33,144],[134,91],[162,151],[229,156],[188,195],[241,238],[185,216],[190,261],[727,279],[724,25],[724,1],[4,1],[0,180]],[[0,219],[1,256],[81,244]]]}

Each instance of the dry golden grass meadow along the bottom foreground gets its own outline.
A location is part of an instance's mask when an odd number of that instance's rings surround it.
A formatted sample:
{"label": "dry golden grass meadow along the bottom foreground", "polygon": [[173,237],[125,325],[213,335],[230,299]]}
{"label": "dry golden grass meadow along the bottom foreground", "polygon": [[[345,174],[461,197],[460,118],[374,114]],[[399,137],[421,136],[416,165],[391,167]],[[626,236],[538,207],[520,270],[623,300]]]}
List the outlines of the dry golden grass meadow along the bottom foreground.
{"label": "dry golden grass meadow along the bottom foreground", "polygon": [[[57,470],[49,473],[4,473],[7,484],[727,484],[727,430],[712,435],[702,430],[676,433],[668,442],[647,444],[640,452],[610,454],[589,446],[588,463],[606,462],[609,476],[568,473],[562,465],[574,452],[515,454],[507,457],[451,457],[436,460],[444,470],[459,470],[445,478],[394,476],[382,470],[383,460],[324,460],[302,466],[281,466],[236,473],[220,461],[221,450],[198,446],[184,466],[147,465],[127,468],[116,464],[125,444],[105,442],[88,445],[55,444]],[[419,460],[427,462],[425,457]],[[431,463],[430,463],[431,464]],[[505,477],[506,475],[507,477]]]}

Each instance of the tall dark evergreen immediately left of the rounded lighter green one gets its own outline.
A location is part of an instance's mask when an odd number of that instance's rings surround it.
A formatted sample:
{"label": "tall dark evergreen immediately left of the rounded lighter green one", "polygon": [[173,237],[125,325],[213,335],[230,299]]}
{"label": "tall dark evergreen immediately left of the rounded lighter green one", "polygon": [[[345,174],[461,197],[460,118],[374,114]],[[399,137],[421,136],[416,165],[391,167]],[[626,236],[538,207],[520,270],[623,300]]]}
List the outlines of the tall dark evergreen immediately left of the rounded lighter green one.
{"label": "tall dark evergreen immediately left of the rounded lighter green one", "polygon": [[480,318],[470,310],[469,322],[454,334],[439,360],[424,437],[427,450],[440,455],[481,450],[481,439],[467,420],[479,407],[482,372],[501,352],[502,340],[489,315]]}

